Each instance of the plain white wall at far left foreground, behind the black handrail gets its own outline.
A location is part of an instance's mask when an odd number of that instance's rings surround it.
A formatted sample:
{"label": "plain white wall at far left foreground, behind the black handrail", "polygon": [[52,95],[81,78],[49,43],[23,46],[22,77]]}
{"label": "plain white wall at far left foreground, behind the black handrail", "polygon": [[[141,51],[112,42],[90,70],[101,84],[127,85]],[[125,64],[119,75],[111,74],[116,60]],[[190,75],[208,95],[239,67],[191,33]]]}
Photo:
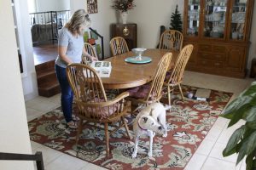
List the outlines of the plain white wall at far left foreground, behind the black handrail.
{"label": "plain white wall at far left foreground, behind the black handrail", "polygon": [[[15,42],[15,26],[11,1],[1,1],[0,66],[1,77],[1,152],[31,154],[25,102],[22,93],[19,60]],[[1,169],[34,169],[32,161],[1,161]]]}

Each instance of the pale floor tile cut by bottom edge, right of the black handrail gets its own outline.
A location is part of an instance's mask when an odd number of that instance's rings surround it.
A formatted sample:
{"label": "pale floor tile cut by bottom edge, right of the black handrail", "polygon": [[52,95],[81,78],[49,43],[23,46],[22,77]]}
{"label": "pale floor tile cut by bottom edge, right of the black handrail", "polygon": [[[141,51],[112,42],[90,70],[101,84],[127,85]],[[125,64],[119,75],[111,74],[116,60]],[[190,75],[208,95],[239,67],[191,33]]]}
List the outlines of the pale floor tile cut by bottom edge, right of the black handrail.
{"label": "pale floor tile cut by bottom edge, right of the black handrail", "polygon": [[[67,154],[64,154],[58,159],[55,159],[55,161],[50,162],[48,165],[46,165],[47,170],[79,170],[82,167],[87,167],[88,162],[82,161],[78,158],[75,158],[73,156],[68,156]],[[88,168],[90,169],[90,168]]]}

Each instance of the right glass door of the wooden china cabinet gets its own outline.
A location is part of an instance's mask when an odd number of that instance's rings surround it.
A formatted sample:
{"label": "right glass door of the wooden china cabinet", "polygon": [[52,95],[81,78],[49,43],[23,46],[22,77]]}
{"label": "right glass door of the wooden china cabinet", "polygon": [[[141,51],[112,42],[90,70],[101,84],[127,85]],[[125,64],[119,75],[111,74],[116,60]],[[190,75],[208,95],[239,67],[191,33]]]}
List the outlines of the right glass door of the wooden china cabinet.
{"label": "right glass door of the wooden china cabinet", "polygon": [[232,15],[230,25],[230,39],[243,40],[244,26],[247,13],[247,0],[232,1]]}

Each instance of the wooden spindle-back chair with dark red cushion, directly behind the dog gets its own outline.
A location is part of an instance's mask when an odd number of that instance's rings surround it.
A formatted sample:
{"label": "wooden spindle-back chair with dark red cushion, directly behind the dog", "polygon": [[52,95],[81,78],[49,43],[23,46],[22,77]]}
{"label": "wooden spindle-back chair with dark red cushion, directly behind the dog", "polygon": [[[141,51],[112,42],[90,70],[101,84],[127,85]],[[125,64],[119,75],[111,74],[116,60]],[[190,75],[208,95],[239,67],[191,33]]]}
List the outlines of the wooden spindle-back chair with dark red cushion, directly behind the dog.
{"label": "wooden spindle-back chair with dark red cushion, directly behind the dog", "polygon": [[[162,87],[166,77],[166,71],[171,60],[172,53],[164,54],[154,73],[153,81],[137,88],[130,88],[128,90],[129,97],[127,100],[131,100],[132,104],[141,105],[149,105],[154,102],[159,102],[162,97]],[[132,112],[134,113],[139,108],[140,105]]]}

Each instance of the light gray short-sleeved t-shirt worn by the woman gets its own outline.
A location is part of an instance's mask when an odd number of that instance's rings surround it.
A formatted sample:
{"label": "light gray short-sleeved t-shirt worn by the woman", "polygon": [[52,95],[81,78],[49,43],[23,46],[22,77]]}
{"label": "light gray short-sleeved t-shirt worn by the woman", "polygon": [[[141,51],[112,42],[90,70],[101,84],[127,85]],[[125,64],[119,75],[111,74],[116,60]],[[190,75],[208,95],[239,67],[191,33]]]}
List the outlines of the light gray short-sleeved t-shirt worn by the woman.
{"label": "light gray short-sleeved t-shirt worn by the woman", "polygon": [[[67,56],[74,63],[80,63],[84,47],[84,38],[82,36],[74,37],[66,27],[63,27],[59,34],[59,46],[67,47]],[[67,67],[67,63],[60,56],[55,60],[55,64],[63,68]]]}

